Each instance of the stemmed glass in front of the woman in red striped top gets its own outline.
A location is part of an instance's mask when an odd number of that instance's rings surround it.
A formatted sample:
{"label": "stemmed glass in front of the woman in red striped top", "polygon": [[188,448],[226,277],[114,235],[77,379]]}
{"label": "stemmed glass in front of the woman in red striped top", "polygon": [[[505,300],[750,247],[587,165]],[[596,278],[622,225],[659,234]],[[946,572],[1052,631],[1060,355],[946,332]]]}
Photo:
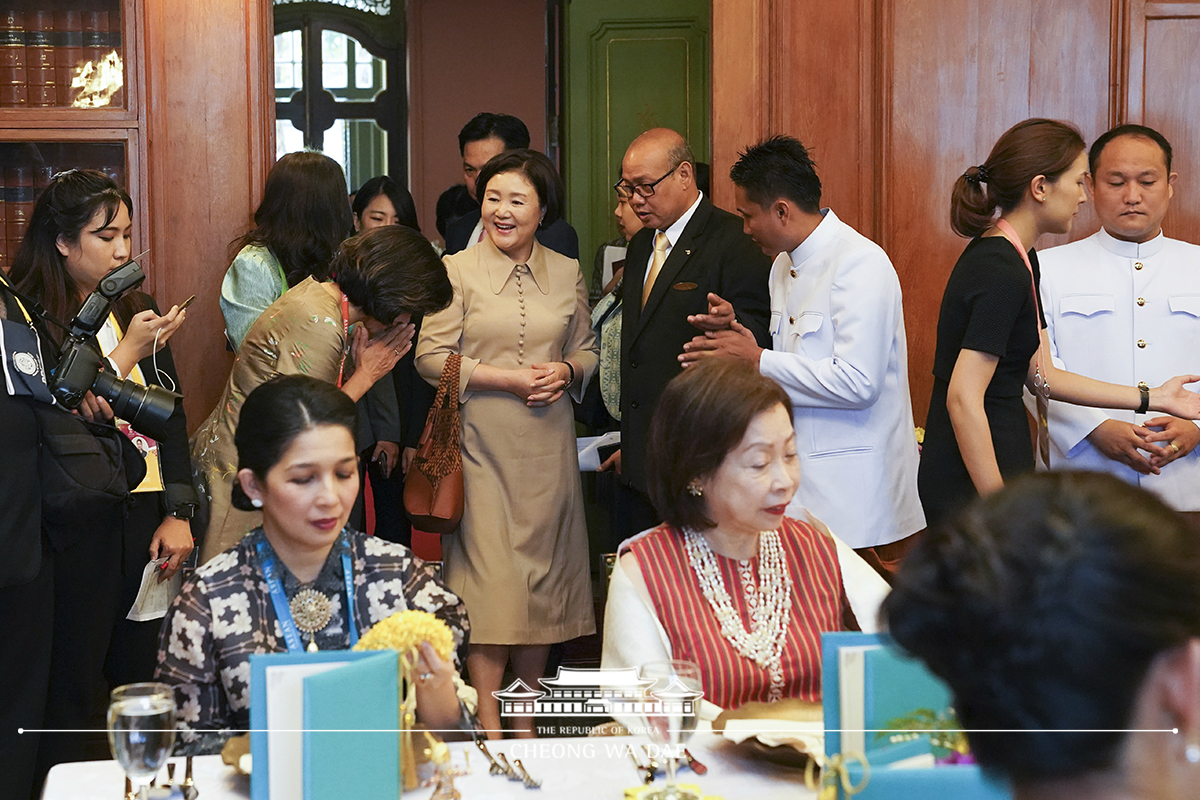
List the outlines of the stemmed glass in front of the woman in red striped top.
{"label": "stemmed glass in front of the woman in red striped top", "polygon": [[691,792],[676,787],[676,762],[683,757],[683,745],[700,720],[700,667],[692,661],[659,661],[642,666],[646,727],[654,744],[662,748],[667,784],[644,800],[700,800]]}

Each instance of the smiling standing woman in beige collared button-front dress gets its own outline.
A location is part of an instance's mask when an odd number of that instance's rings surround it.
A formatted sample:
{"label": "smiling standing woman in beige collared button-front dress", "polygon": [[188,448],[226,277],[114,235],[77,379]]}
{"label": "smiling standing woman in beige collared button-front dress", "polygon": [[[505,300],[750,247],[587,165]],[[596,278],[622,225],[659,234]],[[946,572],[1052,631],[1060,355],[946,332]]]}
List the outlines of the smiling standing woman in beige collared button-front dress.
{"label": "smiling standing woman in beige collared button-front dress", "polygon": [[[587,527],[565,393],[578,401],[596,368],[578,261],[534,234],[562,215],[563,185],[532,150],[492,158],[478,186],[486,237],[444,261],[454,301],[425,318],[416,368],[437,383],[462,355],[464,511],[443,539],[445,582],[470,615],[467,657],[479,718],[500,734],[500,688],[511,657],[536,686],[550,645],[595,632]],[[532,720],[511,721],[533,735]]]}

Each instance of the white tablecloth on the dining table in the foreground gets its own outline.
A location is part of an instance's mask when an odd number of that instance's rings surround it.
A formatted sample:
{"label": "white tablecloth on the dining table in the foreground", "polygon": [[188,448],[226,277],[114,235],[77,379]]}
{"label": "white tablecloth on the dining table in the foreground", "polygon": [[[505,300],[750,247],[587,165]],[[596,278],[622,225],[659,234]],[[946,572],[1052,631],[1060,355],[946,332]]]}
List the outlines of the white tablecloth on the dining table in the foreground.
{"label": "white tablecloth on the dining table in the foreground", "polygon": [[[528,790],[521,783],[487,774],[482,753],[470,742],[450,745],[454,763],[463,765],[469,753],[470,774],[455,780],[463,800],[623,800],[624,790],[640,784],[628,750],[647,740],[640,736],[594,736],[576,739],[532,739],[488,742],[493,756],[505,753],[511,762],[520,758],[524,768],[542,782],[540,790]],[[680,769],[679,783],[700,786],[704,796],[724,800],[806,800],[816,795],[804,788],[803,770],[764,762],[716,734],[697,734],[689,742],[691,753],[708,766],[697,777]],[[466,753],[464,753],[466,751]],[[182,759],[174,759],[176,780],[182,777]],[[218,756],[196,758],[198,800],[245,800],[250,796],[250,778],[240,777]],[[661,775],[654,782],[661,787]],[[43,800],[121,800],[124,774],[116,762],[80,762],[59,764],[50,770]],[[432,789],[420,788],[406,794],[406,800],[427,800]],[[299,799],[295,799],[299,800]]]}

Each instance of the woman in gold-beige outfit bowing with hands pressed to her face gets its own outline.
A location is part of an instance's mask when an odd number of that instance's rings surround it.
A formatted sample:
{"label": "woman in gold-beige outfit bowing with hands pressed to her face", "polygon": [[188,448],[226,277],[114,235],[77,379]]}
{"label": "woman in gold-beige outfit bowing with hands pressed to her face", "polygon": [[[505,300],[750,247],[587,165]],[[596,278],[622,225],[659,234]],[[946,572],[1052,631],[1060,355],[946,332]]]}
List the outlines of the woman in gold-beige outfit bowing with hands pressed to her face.
{"label": "woman in gold-beige outfit bowing with hands pressed to her face", "polygon": [[330,272],[330,281],[301,281],[254,320],[221,401],[192,437],[192,458],[209,491],[202,564],[262,524],[260,512],[229,503],[238,473],[234,432],[250,392],[275,375],[300,374],[337,384],[356,402],[412,347],[409,318],[450,301],[433,247],[402,225],[347,239]]}

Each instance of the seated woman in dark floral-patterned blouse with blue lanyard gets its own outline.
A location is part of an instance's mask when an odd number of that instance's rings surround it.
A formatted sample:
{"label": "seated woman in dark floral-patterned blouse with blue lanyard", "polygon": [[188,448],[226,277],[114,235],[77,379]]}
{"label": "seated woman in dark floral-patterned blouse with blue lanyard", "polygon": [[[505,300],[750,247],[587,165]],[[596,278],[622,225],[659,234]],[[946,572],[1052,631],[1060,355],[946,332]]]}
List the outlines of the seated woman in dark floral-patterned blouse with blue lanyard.
{"label": "seated woman in dark floral-patterned blouse with blue lanyard", "polygon": [[[175,687],[180,753],[217,752],[229,735],[221,730],[250,727],[252,654],[344,650],[409,608],[439,618],[464,645],[467,610],[433,569],[346,527],[359,491],[356,422],[349,397],[304,375],[274,378],[246,398],[233,501],[262,509],[263,525],[197,570],[163,620],[156,680]],[[325,600],[319,613],[295,610],[301,593]],[[470,729],[474,690],[455,664],[426,642],[416,674],[418,720]]]}

